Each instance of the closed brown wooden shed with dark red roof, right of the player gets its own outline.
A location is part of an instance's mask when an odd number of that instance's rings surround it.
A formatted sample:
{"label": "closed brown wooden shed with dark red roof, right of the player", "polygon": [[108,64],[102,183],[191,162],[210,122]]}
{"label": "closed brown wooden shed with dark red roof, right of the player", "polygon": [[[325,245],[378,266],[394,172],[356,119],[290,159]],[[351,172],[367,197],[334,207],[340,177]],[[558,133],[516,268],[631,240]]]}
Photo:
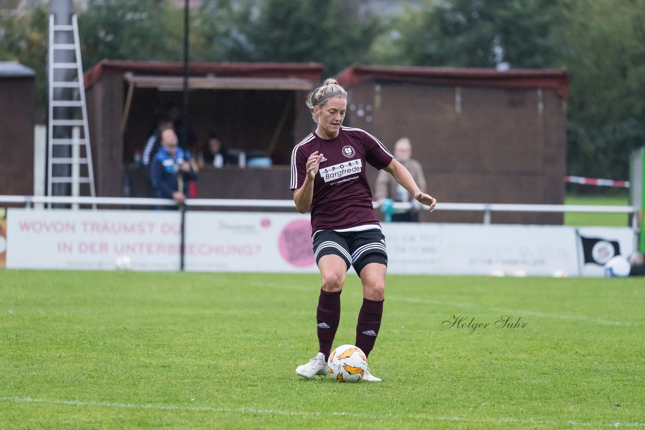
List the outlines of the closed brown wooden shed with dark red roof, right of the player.
{"label": "closed brown wooden shed with dark red roof, right of the player", "polygon": [[[564,202],[565,70],[356,66],[337,79],[349,92],[345,124],[388,148],[410,138],[440,202]],[[482,214],[436,211],[422,220],[482,222]],[[562,224],[562,215],[492,220]]]}

